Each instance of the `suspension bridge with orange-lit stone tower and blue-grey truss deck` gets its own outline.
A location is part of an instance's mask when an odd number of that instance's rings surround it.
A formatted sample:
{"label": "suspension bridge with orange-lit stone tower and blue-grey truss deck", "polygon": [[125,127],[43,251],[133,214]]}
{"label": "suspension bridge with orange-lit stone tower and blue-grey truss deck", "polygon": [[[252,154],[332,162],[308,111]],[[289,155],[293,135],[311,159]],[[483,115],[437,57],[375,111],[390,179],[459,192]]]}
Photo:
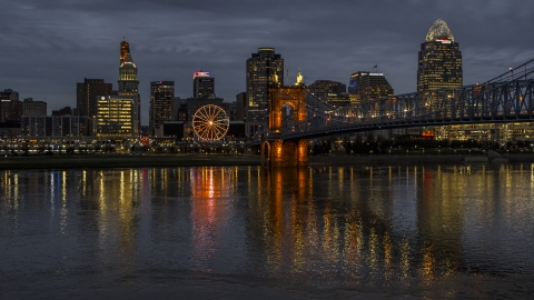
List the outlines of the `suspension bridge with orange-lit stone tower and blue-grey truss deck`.
{"label": "suspension bridge with orange-lit stone tower and blue-grey truss deck", "polygon": [[[305,87],[273,87],[269,128],[256,134],[251,144],[261,146],[265,164],[304,166],[307,156],[303,141],[325,136],[408,127],[534,122],[533,74],[534,59],[483,83],[339,108],[317,99]],[[284,123],[285,104],[293,108],[295,117]],[[287,162],[291,160],[295,163]]]}

